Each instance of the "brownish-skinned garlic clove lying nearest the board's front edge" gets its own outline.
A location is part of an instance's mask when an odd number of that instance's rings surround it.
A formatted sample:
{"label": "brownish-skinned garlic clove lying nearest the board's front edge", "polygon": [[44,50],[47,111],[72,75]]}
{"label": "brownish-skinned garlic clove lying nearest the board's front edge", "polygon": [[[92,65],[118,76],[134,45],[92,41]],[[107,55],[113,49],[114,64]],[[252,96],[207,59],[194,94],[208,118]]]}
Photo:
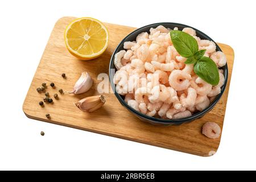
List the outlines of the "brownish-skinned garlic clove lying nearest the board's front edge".
{"label": "brownish-skinned garlic clove lying nearest the board's front edge", "polygon": [[98,96],[90,96],[85,97],[82,100],[75,103],[75,105],[84,112],[92,112],[94,110],[100,109],[101,106],[105,104],[105,96],[98,95]]}

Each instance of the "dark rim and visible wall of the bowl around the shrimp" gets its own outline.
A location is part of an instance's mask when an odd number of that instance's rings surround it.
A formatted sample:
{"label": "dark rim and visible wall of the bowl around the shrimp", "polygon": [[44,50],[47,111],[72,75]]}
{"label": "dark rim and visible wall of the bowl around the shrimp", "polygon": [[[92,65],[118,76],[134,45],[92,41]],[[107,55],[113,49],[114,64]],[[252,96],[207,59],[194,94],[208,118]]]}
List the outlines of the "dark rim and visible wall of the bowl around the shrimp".
{"label": "dark rim and visible wall of the bowl around the shrimp", "polygon": [[[113,82],[113,76],[112,76],[112,72],[110,71],[112,68],[112,64],[114,61],[114,55],[115,53],[117,53],[117,50],[119,49],[119,47],[121,47],[123,45],[124,42],[126,42],[131,35],[134,34],[140,34],[141,30],[144,28],[151,28],[151,27],[157,27],[159,25],[164,25],[164,24],[170,24],[170,26],[177,26],[177,27],[190,27],[193,28],[191,26],[187,26],[186,24],[181,24],[181,23],[172,23],[172,22],[160,22],[160,23],[152,23],[152,24],[148,24],[146,26],[143,26],[141,28],[137,28],[136,30],[134,30],[133,32],[131,32],[130,34],[128,34],[127,36],[125,36],[125,38],[123,38],[121,40],[121,42],[117,45],[117,47],[114,49],[113,54],[110,58],[110,63],[109,63],[109,80],[110,80],[110,85],[112,87],[112,90],[115,94],[115,97],[117,97],[118,101],[126,107],[126,109],[130,110],[132,113],[134,113],[135,115],[137,115],[138,117],[141,117],[143,119],[149,120],[150,122],[154,122],[154,123],[163,123],[163,124],[171,124],[171,123],[184,123],[184,122],[189,122],[189,121],[193,121],[197,118],[203,117],[204,114],[208,113],[208,111],[212,110],[213,107],[217,104],[217,102],[220,100],[222,94],[224,93],[225,89],[226,89],[226,85],[228,83],[228,63],[226,63],[223,67],[221,67],[223,70],[225,70],[224,73],[224,77],[225,77],[225,81],[224,81],[224,85],[222,85],[221,87],[221,93],[218,94],[216,96],[216,98],[214,98],[214,100],[210,103],[210,105],[205,108],[202,111],[199,111],[198,113],[195,113],[193,115],[191,115],[190,117],[185,117],[185,118],[179,118],[179,119],[162,119],[162,118],[155,118],[155,117],[150,117],[146,114],[142,114],[141,112],[133,109],[132,107],[130,107],[121,97],[120,94],[118,94],[115,91],[115,84]],[[204,32],[201,32],[200,30],[197,30],[197,28],[193,28],[193,30],[196,31],[197,34],[203,35],[205,38],[207,38],[207,40],[211,40],[212,42],[214,42],[214,40],[212,38],[210,38],[208,35],[204,34]],[[147,31],[148,32],[148,31]],[[216,44],[216,49],[217,51],[222,51],[221,48],[218,46],[218,44],[216,42],[214,42]],[[122,48],[123,49],[123,48]],[[116,69],[116,68],[115,68]]]}

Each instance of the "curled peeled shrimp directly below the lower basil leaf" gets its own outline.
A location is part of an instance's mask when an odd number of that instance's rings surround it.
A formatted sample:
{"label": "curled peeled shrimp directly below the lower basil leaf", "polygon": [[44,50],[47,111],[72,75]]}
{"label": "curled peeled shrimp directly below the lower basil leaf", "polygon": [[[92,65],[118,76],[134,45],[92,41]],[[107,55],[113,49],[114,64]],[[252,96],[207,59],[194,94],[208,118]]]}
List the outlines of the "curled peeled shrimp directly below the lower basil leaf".
{"label": "curled peeled shrimp directly below the lower basil leaf", "polygon": [[201,96],[207,95],[210,90],[212,90],[212,85],[208,84],[200,77],[193,76],[190,82],[191,87]]}

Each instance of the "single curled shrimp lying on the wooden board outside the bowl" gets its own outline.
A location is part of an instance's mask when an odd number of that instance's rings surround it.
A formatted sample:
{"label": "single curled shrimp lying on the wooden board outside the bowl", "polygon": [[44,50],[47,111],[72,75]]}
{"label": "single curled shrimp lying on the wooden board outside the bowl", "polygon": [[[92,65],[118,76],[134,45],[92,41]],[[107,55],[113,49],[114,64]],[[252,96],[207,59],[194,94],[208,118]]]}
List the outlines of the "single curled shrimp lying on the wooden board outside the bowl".
{"label": "single curled shrimp lying on the wooden board outside the bowl", "polygon": [[203,126],[203,132],[206,137],[216,139],[220,137],[221,128],[214,122],[207,122]]}

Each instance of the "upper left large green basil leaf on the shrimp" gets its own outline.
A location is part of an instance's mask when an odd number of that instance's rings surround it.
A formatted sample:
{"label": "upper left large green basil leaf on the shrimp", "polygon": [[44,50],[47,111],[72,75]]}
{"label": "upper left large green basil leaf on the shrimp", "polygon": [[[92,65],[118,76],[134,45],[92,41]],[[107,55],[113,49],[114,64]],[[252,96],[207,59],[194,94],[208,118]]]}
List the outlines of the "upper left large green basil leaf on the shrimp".
{"label": "upper left large green basil leaf on the shrimp", "polygon": [[191,35],[179,30],[173,30],[170,34],[172,43],[181,56],[188,58],[198,51],[196,39]]}

